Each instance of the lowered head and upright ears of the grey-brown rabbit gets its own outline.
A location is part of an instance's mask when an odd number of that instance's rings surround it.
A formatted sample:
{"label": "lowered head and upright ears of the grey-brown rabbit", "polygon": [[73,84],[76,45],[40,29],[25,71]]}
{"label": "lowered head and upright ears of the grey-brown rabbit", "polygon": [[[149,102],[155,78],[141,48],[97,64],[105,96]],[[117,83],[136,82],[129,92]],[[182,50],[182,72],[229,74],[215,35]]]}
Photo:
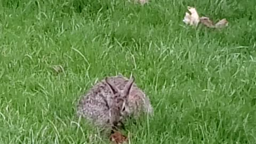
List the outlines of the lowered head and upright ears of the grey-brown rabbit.
{"label": "lowered head and upright ears of the grey-brown rabbit", "polygon": [[127,114],[127,111],[129,111],[128,99],[132,84],[134,82],[134,77],[132,77],[129,82],[127,82],[123,92],[118,90],[116,85],[111,82],[109,78],[106,78],[105,80],[113,93],[113,97],[110,98],[111,100],[108,105],[110,118],[109,122],[110,124],[114,124],[116,126],[119,122],[121,122],[123,116]]}

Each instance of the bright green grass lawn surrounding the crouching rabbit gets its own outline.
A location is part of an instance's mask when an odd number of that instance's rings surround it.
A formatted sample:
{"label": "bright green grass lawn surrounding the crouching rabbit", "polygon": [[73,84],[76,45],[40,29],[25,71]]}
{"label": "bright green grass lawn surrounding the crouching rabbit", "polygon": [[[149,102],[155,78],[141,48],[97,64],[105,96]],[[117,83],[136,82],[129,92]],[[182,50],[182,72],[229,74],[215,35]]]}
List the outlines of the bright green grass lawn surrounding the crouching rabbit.
{"label": "bright green grass lawn surrounding the crouching rabbit", "polygon": [[[117,73],[155,109],[131,143],[256,142],[255,0],[0,2],[0,143],[108,143],[75,109]],[[229,26],[185,26],[188,5]]]}

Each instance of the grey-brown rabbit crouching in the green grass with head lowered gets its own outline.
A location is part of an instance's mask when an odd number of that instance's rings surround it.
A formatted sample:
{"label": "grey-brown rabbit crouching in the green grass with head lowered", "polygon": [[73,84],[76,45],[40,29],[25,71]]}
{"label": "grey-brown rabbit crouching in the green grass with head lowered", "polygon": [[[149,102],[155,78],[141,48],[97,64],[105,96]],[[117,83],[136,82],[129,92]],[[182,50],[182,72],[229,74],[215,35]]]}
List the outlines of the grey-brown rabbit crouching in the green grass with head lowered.
{"label": "grey-brown rabbit crouching in the green grass with head lowered", "polygon": [[95,84],[78,102],[77,115],[101,126],[117,126],[127,116],[153,114],[149,99],[122,75],[106,77]]}

